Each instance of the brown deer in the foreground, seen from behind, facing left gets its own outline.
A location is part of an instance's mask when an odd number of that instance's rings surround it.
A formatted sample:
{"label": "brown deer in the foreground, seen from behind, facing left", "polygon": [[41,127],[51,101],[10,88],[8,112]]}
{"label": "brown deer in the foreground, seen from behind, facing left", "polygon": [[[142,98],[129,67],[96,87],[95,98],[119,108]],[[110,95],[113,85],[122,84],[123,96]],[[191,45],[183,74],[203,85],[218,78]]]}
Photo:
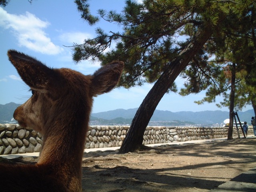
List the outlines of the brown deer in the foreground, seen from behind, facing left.
{"label": "brown deer in the foreground, seen from behind, facing left", "polygon": [[84,75],[49,68],[16,50],[8,50],[8,57],[32,91],[14,111],[14,119],[40,132],[43,144],[36,164],[0,164],[0,191],[82,191],[82,157],[93,97],[116,86],[124,62],[113,61]]}

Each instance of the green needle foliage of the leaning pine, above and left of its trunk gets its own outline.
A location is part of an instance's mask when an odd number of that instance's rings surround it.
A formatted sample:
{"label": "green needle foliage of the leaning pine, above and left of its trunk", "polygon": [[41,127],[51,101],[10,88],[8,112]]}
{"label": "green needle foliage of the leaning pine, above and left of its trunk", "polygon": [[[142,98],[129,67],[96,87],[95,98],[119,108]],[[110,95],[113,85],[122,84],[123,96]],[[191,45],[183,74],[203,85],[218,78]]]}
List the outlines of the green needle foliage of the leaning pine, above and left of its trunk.
{"label": "green needle foliage of the leaning pine, above and left of its trunk", "polygon": [[[89,21],[87,1],[76,3],[85,7],[82,18]],[[210,0],[144,0],[143,3],[127,0],[121,13],[100,9],[100,18],[116,22],[122,26],[122,32],[107,34],[97,28],[95,38],[74,46],[73,59],[99,60],[103,65],[123,60],[126,65],[119,85],[129,88],[153,83],[191,40],[198,26],[216,27],[220,16],[227,12],[226,7],[227,4],[220,6]],[[186,34],[188,40],[181,42],[176,38],[178,33]],[[113,41],[115,48],[105,52]],[[176,91],[175,85],[170,90]]]}

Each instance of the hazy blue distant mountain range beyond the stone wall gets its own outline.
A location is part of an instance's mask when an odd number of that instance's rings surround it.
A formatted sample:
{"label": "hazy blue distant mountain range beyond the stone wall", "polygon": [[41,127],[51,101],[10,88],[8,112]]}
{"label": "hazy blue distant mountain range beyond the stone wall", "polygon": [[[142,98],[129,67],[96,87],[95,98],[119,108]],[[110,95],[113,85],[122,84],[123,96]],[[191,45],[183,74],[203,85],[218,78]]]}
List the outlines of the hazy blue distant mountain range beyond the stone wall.
{"label": "hazy blue distant mountain range beyond the stone wall", "polygon": [[[13,112],[20,106],[16,103],[0,104],[0,123],[12,123]],[[116,109],[106,112],[92,113],[90,117],[91,125],[130,125],[138,108],[134,109]],[[247,110],[245,112],[238,112],[240,120],[250,122],[251,117],[254,116],[254,110]],[[149,125],[156,126],[182,126],[187,124],[200,124],[203,126],[211,126],[212,124],[223,123],[225,119],[229,118],[229,112],[216,111],[200,111],[200,112],[170,112],[155,110]],[[15,123],[15,122],[14,122]]]}

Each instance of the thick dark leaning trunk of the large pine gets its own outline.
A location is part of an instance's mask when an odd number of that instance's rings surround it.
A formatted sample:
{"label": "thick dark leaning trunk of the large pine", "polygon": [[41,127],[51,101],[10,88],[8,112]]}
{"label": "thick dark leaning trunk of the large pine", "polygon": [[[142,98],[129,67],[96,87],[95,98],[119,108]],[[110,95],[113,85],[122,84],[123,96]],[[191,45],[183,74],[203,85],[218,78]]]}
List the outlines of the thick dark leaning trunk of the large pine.
{"label": "thick dark leaning trunk of the large pine", "polygon": [[144,132],[156,106],[180,72],[188,65],[198,50],[202,48],[211,34],[211,30],[200,28],[190,43],[180,52],[179,56],[170,62],[168,68],[162,73],[138,108],[119,153],[134,152],[142,145]]}

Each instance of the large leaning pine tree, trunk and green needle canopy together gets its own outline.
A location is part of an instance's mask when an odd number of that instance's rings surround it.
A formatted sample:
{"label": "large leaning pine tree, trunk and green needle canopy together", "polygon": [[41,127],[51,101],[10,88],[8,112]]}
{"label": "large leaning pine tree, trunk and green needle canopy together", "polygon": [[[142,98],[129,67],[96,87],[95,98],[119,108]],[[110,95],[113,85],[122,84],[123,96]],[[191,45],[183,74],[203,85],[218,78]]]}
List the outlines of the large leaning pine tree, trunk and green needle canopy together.
{"label": "large leaning pine tree, trunk and green needle canopy together", "polygon": [[[88,8],[86,0],[79,1]],[[180,74],[191,73],[190,91],[199,92],[212,84],[212,77],[206,78],[201,86],[200,74],[212,73],[217,65],[209,65],[210,45],[222,44],[225,31],[230,27],[237,4],[244,1],[211,0],[144,0],[143,3],[126,1],[123,13],[99,10],[100,17],[108,22],[117,22],[122,32],[110,32],[98,28],[97,36],[88,39],[82,45],[74,46],[73,59],[99,60],[106,64],[112,60],[126,63],[120,86],[129,88],[154,82],[154,86],[140,105],[130,130],[120,148],[120,152],[134,151],[142,144],[144,131],[162,96],[170,90],[176,90],[174,80]],[[87,13],[83,16],[84,12]],[[82,11],[85,20],[91,18],[88,9]],[[90,20],[89,20],[90,22]],[[90,22],[92,24],[92,22]],[[177,40],[177,35],[186,36],[186,40]],[[113,41],[116,47],[104,52]],[[206,42],[211,42],[205,48]],[[217,47],[217,46],[216,46]],[[196,74],[196,76],[194,75]],[[223,75],[218,69],[212,73]]]}

